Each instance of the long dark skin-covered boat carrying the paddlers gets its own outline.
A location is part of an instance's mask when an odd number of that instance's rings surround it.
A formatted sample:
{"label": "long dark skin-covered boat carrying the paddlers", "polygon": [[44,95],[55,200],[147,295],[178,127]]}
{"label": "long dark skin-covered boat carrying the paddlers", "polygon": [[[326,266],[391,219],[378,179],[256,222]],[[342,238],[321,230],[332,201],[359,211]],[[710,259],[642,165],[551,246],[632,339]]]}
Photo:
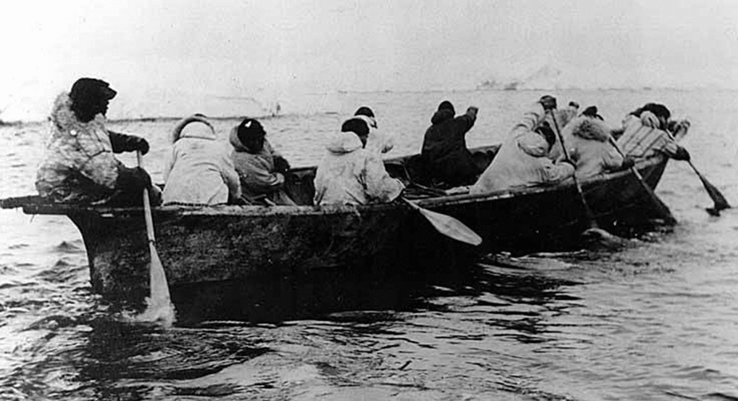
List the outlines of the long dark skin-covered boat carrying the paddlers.
{"label": "long dark skin-covered boat carrying the paddlers", "polygon": [[[498,146],[475,149],[494,157]],[[387,159],[390,175],[415,179],[418,156]],[[489,161],[488,161],[489,162]],[[636,165],[655,188],[667,159]],[[289,192],[309,203],[314,167],[292,170]],[[630,170],[580,182],[597,223],[623,234],[658,218],[652,199]],[[487,195],[446,195],[413,186],[418,206],[458,218],[483,238],[478,247],[435,231],[407,203],[363,206],[164,206],[153,209],[156,248],[170,288],[217,282],[254,282],[290,272],[379,266],[427,268],[490,251],[556,250],[576,246],[587,229],[572,182]],[[66,215],[82,234],[92,287],[109,299],[148,295],[148,240],[142,207],[109,208],[44,203],[37,196],[1,200],[29,215]],[[176,300],[175,300],[176,301]]]}

